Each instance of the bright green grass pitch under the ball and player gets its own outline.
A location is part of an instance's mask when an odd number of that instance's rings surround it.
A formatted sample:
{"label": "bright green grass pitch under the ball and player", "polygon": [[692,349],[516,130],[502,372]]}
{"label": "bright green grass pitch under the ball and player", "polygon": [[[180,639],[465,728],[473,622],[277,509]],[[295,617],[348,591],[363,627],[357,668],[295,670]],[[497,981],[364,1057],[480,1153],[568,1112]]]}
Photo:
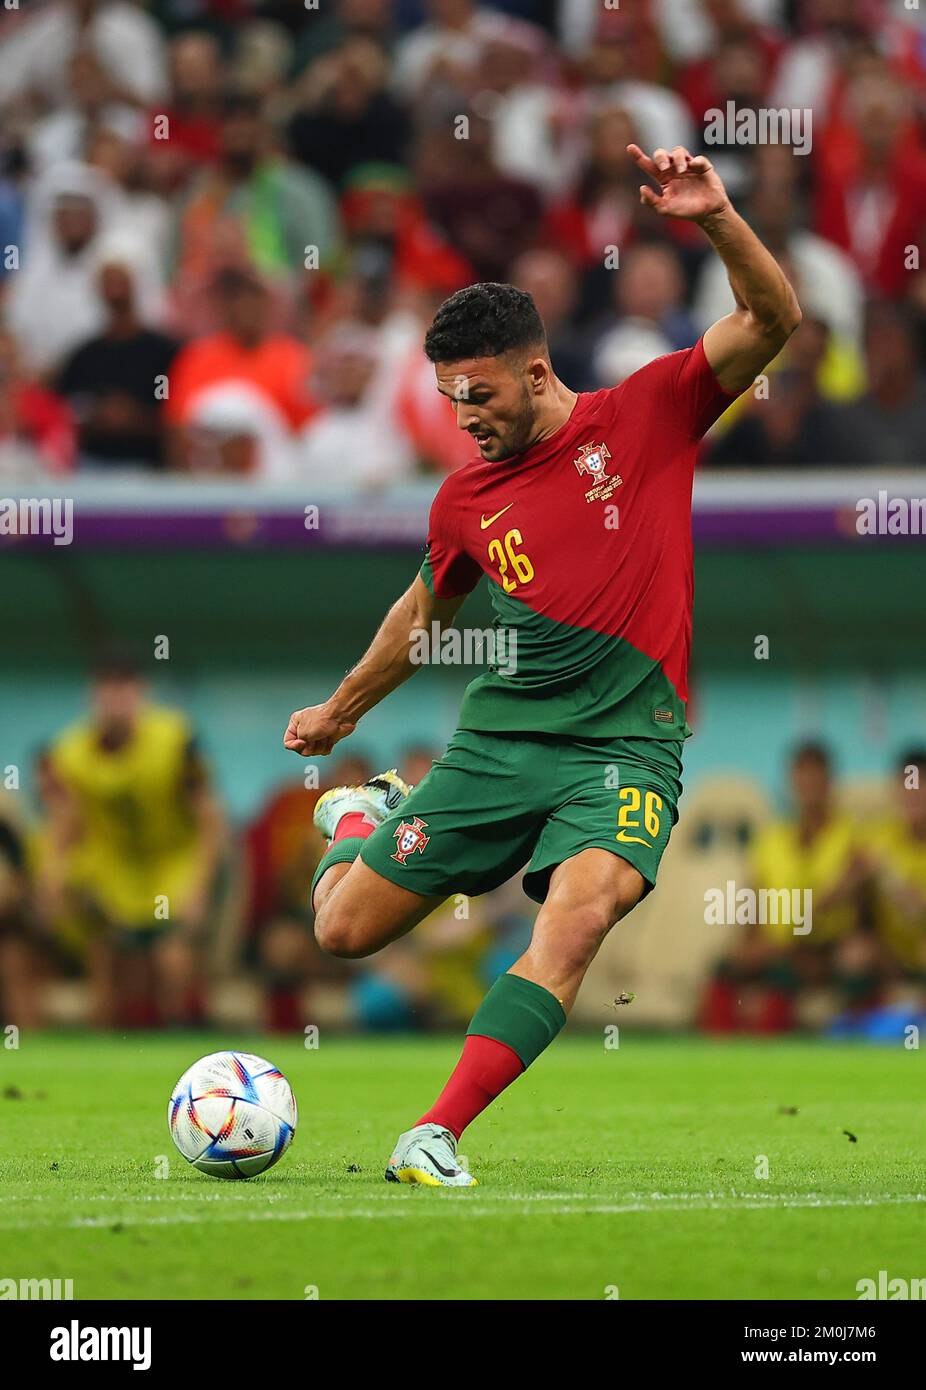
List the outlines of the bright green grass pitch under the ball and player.
{"label": "bright green grass pitch under the ball and player", "polygon": [[[165,1123],[181,1072],[225,1047],[271,1058],[299,1102],[286,1156],[243,1183],[189,1168]],[[0,1279],[72,1279],[78,1300],[854,1300],[880,1269],[926,1275],[919,1051],[564,1037],[464,1134],[476,1190],[385,1184],[457,1049],[0,1047]]]}

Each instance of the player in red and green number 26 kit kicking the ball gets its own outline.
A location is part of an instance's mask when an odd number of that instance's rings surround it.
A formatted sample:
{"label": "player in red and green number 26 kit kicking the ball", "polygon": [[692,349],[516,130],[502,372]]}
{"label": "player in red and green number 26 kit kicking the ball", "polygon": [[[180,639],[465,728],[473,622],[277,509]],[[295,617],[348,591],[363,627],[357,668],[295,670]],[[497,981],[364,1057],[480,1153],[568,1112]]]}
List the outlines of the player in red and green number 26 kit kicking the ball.
{"label": "player in red and green number 26 kit kicking the ball", "polygon": [[658,185],[641,202],[706,232],[733,313],[694,348],[577,395],[551,368],[528,295],[491,284],[452,295],[424,350],[480,457],[437,493],[420,574],[367,653],[284,735],[304,758],[330,753],[416,670],[414,634],[450,623],[488,578],[496,623],[517,641],[467,687],[444,758],[410,795],[384,773],[316,810],[331,841],[313,883],[316,934],[335,955],[370,955],[450,892],[487,892],[526,863],[524,890],[542,903],[445,1088],[399,1137],[391,1182],[473,1186],[456,1161],[464,1127],[553,1041],[602,940],[656,881],[690,733],[698,441],[801,321],[705,157],[627,149]]}

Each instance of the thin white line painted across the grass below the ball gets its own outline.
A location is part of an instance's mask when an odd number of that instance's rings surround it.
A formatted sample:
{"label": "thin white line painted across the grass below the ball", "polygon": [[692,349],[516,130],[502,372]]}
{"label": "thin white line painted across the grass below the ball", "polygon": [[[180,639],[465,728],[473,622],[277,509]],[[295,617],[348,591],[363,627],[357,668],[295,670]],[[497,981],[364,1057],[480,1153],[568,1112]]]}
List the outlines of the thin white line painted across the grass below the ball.
{"label": "thin white line painted across the grass below the ball", "polygon": [[[430,1195],[430,1194],[428,1194]],[[482,1194],[488,1195],[488,1194]],[[385,1194],[387,1202],[392,1202],[391,1207],[378,1204],[375,1207],[348,1207],[346,1209],[338,1209],[338,1205],[325,1208],[314,1207],[307,1208],[279,1208],[277,1211],[243,1211],[232,1212],[222,1209],[210,1209],[202,1213],[195,1212],[170,1212],[164,1215],[152,1213],[138,1213],[131,1215],[127,1212],[113,1213],[111,1216],[75,1216],[68,1220],[54,1220],[54,1219],[39,1219],[35,1222],[0,1222],[0,1230],[35,1230],[56,1229],[56,1230],[100,1230],[111,1227],[113,1225],[121,1226],[197,1226],[206,1222],[304,1222],[304,1220],[381,1220],[381,1219],[409,1219],[412,1216],[427,1216],[434,1219],[434,1216],[449,1215],[453,1216],[498,1216],[498,1205],[501,1202],[510,1204],[512,1207],[520,1205],[517,1215],[544,1215],[544,1216],[577,1216],[594,1213],[598,1216],[628,1216],[641,1215],[652,1212],[692,1212],[692,1211],[769,1211],[769,1209],[804,1209],[804,1211],[819,1211],[825,1208],[837,1207],[895,1207],[895,1205],[909,1205],[923,1202],[926,1204],[926,1193],[905,1193],[894,1197],[825,1197],[818,1193],[794,1193],[790,1195],[776,1197],[774,1194],[755,1194],[747,1197],[745,1194],[724,1197],[723,1194],[681,1194],[681,1193],[651,1193],[648,1198],[638,1201],[624,1201],[624,1202],[602,1202],[591,1197],[591,1194],[577,1193],[576,1198],[583,1198],[581,1201],[569,1200],[558,1197],[558,1194],[531,1194],[528,1198],[495,1194],[495,1201],[485,1204],[476,1194],[470,1194],[464,1198],[459,1195],[450,1201],[441,1200],[437,1204],[427,1200],[424,1201],[396,1201],[399,1194]],[[551,1205],[538,1205],[537,1197],[544,1197],[551,1201]],[[145,1200],[145,1198],[143,1198]],[[559,1205],[552,1205],[558,1201]],[[345,1204],[346,1205],[346,1204]]]}

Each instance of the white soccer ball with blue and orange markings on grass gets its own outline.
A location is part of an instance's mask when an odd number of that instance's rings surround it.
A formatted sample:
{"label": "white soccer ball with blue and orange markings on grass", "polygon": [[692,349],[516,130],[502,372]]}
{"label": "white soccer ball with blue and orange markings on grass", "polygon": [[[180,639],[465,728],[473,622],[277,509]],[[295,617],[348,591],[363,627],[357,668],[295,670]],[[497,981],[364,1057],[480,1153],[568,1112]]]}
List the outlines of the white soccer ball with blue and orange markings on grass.
{"label": "white soccer ball with blue and orange markings on grass", "polygon": [[275,1066],[253,1052],[193,1062],[167,1108],[184,1158],[213,1177],[254,1177],[282,1158],[296,1130],[296,1098]]}

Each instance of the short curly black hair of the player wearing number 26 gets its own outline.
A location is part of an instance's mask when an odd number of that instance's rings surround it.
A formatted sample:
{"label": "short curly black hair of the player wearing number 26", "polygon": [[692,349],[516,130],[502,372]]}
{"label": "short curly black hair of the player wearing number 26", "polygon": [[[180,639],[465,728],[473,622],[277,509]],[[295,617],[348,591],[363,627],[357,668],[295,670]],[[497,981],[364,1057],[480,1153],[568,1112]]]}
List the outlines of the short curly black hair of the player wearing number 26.
{"label": "short curly black hair of the player wearing number 26", "polygon": [[492,281],[445,299],[424,338],[428,361],[499,357],[517,348],[545,353],[544,321],[526,291]]}

